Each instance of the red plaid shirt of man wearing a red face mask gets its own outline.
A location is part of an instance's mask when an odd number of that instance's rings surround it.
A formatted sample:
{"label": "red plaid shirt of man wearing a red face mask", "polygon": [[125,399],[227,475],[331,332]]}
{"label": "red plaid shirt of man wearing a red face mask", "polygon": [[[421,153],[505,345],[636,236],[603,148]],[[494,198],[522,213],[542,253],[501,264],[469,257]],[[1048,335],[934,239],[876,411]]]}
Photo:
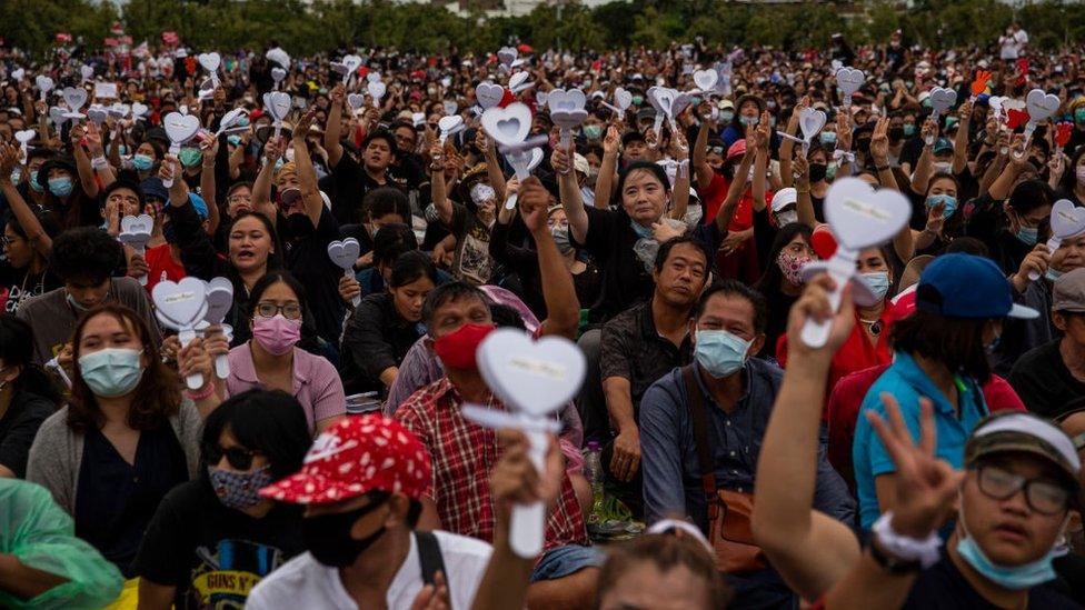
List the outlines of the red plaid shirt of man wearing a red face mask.
{"label": "red plaid shirt of man wearing a red face mask", "polygon": [[[441,529],[492,542],[490,471],[499,457],[497,433],[466,420],[459,410],[462,403],[459,392],[442,377],[407,399],[396,411],[396,419],[429,450],[434,480],[426,496],[437,503]],[[505,410],[497,399],[490,407]],[[587,543],[584,516],[565,474],[561,497],[546,520],[544,550]]]}

